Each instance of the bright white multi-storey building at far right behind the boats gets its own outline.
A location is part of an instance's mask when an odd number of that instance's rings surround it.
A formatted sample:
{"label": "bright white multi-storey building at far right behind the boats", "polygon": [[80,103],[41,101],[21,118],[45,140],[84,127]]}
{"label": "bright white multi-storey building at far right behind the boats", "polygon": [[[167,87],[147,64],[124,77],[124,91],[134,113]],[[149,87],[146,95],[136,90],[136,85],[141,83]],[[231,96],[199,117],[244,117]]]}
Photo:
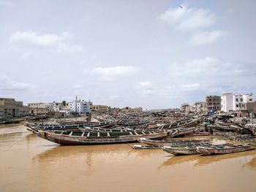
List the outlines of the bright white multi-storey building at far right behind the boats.
{"label": "bright white multi-storey building at far right behind the boats", "polygon": [[221,104],[222,111],[228,112],[230,110],[246,110],[246,103],[254,102],[255,98],[253,94],[233,94],[233,93],[224,93],[222,95]]}

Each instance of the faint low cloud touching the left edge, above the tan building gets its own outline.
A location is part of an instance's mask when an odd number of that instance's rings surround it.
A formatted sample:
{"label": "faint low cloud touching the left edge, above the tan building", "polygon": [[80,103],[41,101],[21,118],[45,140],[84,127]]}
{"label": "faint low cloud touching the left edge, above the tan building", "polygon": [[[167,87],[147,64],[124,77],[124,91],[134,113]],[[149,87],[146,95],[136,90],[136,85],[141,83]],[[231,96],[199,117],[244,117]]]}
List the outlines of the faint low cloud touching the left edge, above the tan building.
{"label": "faint low cloud touching the left edge, above the tan building", "polygon": [[7,75],[0,75],[0,91],[2,92],[27,91],[31,88],[35,88],[35,85],[26,82],[16,82]]}

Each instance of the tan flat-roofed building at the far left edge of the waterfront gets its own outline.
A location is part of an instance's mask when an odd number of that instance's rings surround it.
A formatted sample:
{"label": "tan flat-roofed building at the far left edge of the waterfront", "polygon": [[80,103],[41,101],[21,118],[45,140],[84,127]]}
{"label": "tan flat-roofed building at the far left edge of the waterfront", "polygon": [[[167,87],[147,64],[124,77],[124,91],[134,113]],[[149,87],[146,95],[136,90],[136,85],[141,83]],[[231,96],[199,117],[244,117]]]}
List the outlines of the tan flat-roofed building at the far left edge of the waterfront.
{"label": "tan flat-roofed building at the far left edge of the waterfront", "polygon": [[29,115],[29,107],[23,106],[23,101],[11,98],[0,98],[0,116]]}

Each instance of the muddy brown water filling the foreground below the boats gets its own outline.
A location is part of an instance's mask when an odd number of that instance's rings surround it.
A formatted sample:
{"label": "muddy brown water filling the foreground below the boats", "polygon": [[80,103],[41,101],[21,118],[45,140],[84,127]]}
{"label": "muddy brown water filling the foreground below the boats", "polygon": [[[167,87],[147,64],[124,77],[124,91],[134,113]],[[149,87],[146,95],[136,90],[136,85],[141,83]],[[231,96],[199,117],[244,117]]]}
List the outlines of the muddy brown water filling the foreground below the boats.
{"label": "muddy brown water filling the foreground below the boats", "polygon": [[256,191],[256,150],[174,157],[128,145],[58,146],[12,125],[0,126],[0,153],[0,191]]}

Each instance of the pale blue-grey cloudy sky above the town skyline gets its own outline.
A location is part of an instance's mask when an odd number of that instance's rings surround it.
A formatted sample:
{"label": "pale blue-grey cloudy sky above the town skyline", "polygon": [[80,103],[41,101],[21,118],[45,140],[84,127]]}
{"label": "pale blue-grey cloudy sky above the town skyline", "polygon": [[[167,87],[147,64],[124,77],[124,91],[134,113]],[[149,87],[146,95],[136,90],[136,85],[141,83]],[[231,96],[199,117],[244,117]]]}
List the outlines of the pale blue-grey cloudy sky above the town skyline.
{"label": "pale blue-grey cloudy sky above the town skyline", "polygon": [[0,0],[0,97],[166,109],[255,93],[256,1]]}

